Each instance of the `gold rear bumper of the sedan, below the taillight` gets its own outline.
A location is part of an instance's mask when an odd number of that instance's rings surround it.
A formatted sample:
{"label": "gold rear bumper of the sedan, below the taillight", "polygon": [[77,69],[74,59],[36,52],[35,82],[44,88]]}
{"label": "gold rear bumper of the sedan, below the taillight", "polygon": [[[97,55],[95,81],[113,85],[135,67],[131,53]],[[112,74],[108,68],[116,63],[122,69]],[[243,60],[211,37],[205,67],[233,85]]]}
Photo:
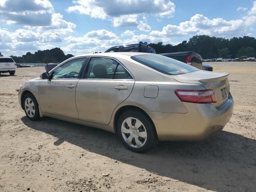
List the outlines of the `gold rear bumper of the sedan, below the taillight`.
{"label": "gold rear bumper of the sedan, below the taillight", "polygon": [[159,140],[204,140],[224,128],[234,109],[231,94],[219,108],[212,104],[183,103],[188,110],[186,114],[147,112],[155,124]]}

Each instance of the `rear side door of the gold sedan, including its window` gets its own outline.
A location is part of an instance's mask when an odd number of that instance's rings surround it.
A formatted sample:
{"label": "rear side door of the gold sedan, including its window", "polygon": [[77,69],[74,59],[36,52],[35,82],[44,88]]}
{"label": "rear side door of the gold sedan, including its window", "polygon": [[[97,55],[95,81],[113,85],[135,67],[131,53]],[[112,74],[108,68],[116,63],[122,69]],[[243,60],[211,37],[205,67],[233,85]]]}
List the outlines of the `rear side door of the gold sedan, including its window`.
{"label": "rear side door of the gold sedan, including its window", "polygon": [[83,79],[76,86],[78,118],[107,125],[114,109],[134,86],[132,75],[113,58],[92,57]]}

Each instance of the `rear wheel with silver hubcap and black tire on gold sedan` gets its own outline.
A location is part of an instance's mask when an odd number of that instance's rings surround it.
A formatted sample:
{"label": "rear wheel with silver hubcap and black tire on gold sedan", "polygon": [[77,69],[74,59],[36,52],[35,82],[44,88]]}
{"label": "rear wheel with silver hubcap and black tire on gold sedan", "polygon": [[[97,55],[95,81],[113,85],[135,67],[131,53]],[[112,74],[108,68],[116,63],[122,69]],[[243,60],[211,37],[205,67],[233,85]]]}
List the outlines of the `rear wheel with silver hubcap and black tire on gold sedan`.
{"label": "rear wheel with silver hubcap and black tire on gold sedan", "polygon": [[[137,128],[136,123],[138,123]],[[117,123],[117,133],[124,146],[137,153],[144,153],[152,149],[158,142],[153,122],[148,116],[137,110],[128,110],[120,116]],[[138,136],[139,134],[140,136]]]}

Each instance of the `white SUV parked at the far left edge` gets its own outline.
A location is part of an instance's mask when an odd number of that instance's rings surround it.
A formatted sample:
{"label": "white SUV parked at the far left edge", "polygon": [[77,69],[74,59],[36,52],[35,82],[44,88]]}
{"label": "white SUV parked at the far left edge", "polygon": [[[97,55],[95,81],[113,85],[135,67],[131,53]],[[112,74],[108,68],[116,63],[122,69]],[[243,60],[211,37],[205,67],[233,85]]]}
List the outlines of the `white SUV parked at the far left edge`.
{"label": "white SUV parked at the far left edge", "polygon": [[14,75],[16,71],[16,63],[11,57],[0,57],[0,74],[9,73]]}

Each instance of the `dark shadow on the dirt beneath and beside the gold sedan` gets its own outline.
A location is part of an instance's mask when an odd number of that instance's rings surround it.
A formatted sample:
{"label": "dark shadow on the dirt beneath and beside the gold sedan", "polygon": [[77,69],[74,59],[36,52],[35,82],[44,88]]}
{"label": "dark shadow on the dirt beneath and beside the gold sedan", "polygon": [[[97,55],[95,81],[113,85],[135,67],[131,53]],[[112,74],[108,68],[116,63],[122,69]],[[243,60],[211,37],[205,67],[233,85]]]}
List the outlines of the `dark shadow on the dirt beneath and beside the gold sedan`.
{"label": "dark shadow on the dirt beneath and beside the gold sedan", "polygon": [[104,130],[43,118],[22,117],[26,126],[84,150],[213,191],[254,191],[256,140],[221,131],[202,142],[159,142],[144,154],[127,150],[116,134]]}

